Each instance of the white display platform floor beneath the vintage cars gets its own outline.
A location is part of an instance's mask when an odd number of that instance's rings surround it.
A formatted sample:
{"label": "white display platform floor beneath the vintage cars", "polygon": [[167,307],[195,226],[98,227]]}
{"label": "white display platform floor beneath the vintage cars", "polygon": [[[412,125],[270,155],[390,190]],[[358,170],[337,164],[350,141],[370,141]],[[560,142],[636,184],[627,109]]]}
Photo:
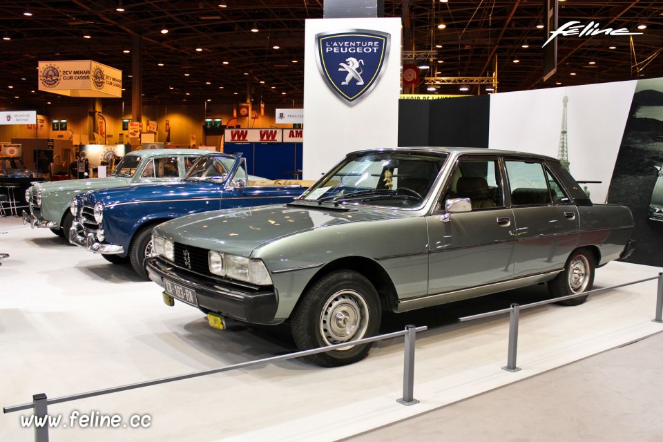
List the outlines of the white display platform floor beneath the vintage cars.
{"label": "white display platform floor beneath the vintage cars", "polygon": [[[0,218],[0,405],[30,402],[222,367],[294,350],[287,328],[211,329],[202,314],[166,307],[160,287],[126,266],[66,246],[46,229]],[[595,286],[657,276],[659,268],[613,262]],[[532,290],[540,290],[534,287]],[[438,326],[419,334],[414,397],[401,397],[403,340],[378,343],[354,365],[299,361],[215,374],[52,405],[150,414],[147,429],[58,428],[51,441],[332,441],[480,394],[660,332],[651,322],[656,281],[590,297],[579,307],[521,312],[518,366],[506,365],[508,316]],[[410,314],[411,315],[411,314]],[[425,315],[422,315],[424,318]],[[410,316],[416,319],[417,316]],[[416,325],[427,325],[414,320]],[[0,414],[0,440],[32,441],[19,416]],[[64,421],[63,423],[68,423]]]}

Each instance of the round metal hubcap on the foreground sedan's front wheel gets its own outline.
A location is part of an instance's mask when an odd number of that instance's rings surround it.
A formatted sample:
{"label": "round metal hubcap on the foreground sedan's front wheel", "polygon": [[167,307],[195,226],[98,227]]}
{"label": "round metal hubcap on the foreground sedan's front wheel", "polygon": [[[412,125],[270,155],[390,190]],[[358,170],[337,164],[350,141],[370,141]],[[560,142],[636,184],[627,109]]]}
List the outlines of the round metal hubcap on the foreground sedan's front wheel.
{"label": "round metal hubcap on the foreground sedan's front wheel", "polygon": [[[368,307],[354,290],[341,290],[327,299],[320,316],[320,336],[333,345],[364,337],[368,327]],[[345,347],[347,349],[350,347]]]}

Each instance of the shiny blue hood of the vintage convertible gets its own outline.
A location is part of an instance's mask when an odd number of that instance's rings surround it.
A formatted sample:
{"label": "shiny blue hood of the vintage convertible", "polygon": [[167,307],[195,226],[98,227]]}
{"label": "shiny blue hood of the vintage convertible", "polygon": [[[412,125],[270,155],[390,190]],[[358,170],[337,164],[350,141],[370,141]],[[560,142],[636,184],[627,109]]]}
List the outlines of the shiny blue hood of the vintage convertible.
{"label": "shiny blue hood of the vintage convertible", "polygon": [[185,197],[209,198],[211,191],[219,189],[220,186],[209,182],[182,181],[172,184],[142,184],[90,191],[85,193],[84,200],[89,204],[103,202],[105,206],[109,206],[122,202],[182,200]]}

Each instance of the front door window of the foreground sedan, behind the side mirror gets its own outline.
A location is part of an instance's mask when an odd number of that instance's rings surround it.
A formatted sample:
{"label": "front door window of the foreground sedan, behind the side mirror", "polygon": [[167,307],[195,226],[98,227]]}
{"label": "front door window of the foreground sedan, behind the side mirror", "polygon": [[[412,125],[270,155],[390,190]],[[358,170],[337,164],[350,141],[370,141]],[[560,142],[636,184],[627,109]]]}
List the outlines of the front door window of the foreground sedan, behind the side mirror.
{"label": "front door window of the foreground sedan, behind the side mirror", "polygon": [[472,209],[504,206],[497,160],[461,158],[445,200],[449,198],[470,198]]}

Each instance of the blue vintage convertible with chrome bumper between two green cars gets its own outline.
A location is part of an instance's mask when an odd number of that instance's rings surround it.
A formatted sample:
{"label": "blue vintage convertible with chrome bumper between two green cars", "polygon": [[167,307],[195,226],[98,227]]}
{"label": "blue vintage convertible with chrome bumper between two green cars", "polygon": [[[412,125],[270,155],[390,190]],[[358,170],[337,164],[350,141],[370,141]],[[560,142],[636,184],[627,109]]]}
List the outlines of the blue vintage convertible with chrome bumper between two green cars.
{"label": "blue vintage convertible with chrome bumper between two green cars", "polygon": [[146,277],[143,260],[152,254],[157,224],[192,213],[290,202],[313,184],[257,179],[246,170],[244,158],[215,153],[200,157],[175,184],[81,193],[71,202],[76,220],[69,240],[115,264],[131,262]]}

